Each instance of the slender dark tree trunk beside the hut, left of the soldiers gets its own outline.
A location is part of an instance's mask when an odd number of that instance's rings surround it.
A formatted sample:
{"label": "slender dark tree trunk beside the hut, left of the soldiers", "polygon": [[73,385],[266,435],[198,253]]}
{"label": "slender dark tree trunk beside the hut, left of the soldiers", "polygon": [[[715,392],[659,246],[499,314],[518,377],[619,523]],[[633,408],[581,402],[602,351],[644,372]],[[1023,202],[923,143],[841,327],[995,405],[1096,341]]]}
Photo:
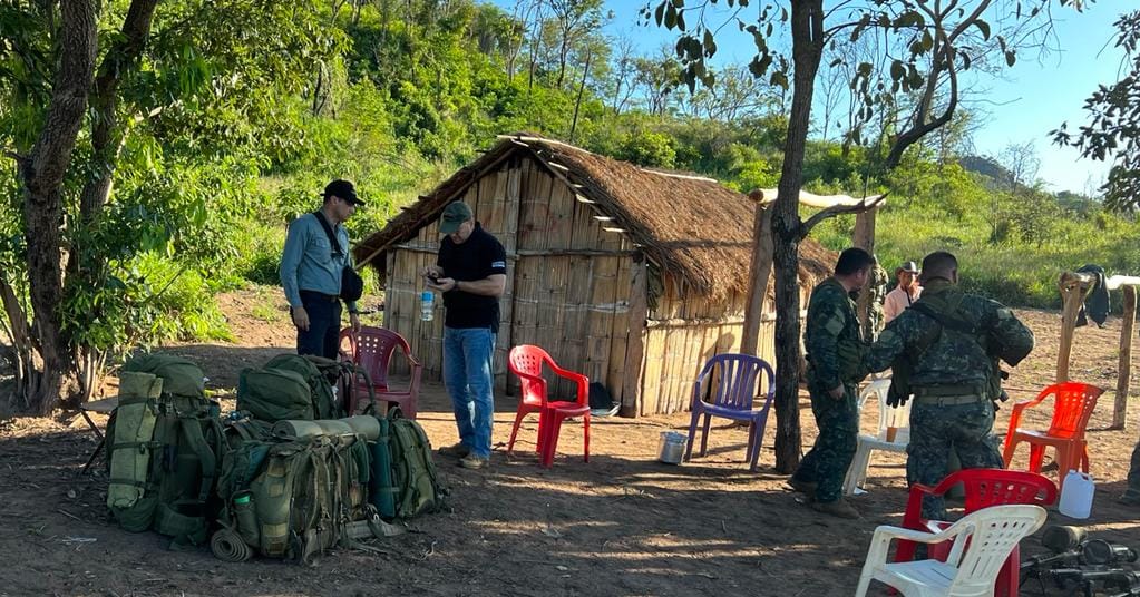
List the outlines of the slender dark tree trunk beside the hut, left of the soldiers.
{"label": "slender dark tree trunk beside the hut, left of the soldiers", "polygon": [[773,216],[773,257],[776,283],[776,471],[799,466],[799,189],[804,150],[812,117],[812,91],[823,55],[823,2],[791,3],[792,63],[795,65],[788,141],[780,173]]}

